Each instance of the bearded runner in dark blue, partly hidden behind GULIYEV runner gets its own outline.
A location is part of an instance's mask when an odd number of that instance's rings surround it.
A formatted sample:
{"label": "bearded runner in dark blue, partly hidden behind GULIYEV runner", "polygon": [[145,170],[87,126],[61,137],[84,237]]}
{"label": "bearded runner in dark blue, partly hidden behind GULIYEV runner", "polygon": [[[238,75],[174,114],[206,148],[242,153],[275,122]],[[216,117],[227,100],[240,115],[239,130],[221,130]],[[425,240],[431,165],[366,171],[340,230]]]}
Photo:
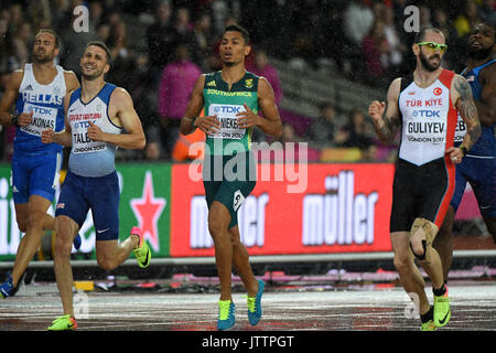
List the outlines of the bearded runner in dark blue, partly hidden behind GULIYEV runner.
{"label": "bearded runner in dark blue, partly hidden behind GULIYEV runner", "polygon": [[[494,60],[495,29],[478,23],[468,36],[468,60],[461,75],[471,85],[481,120],[481,137],[456,164],[456,185],[444,223],[433,244],[443,263],[444,280],[453,260],[452,229],[456,210],[462,201],[466,183],[474,190],[482,217],[496,244],[496,60]],[[460,145],[465,125],[459,117],[455,143]],[[460,147],[460,146],[459,146]]]}

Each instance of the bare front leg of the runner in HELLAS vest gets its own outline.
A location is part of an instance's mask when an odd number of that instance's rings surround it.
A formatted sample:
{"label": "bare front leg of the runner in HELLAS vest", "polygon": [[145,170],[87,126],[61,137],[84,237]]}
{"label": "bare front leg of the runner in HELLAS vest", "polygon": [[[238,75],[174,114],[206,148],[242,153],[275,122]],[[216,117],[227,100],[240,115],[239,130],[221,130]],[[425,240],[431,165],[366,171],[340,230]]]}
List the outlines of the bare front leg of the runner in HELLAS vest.
{"label": "bare front leg of the runner in HELLAS vest", "polygon": [[[20,229],[25,234],[22,237],[18,253],[15,255],[14,267],[12,269],[12,282],[14,287],[18,285],[28,265],[32,260],[34,254],[41,244],[43,229],[45,225],[46,210],[48,210],[52,202],[39,195],[31,195],[28,204],[19,205],[17,218],[21,221]],[[23,216],[21,218],[21,216]],[[46,222],[50,225],[50,221]]]}

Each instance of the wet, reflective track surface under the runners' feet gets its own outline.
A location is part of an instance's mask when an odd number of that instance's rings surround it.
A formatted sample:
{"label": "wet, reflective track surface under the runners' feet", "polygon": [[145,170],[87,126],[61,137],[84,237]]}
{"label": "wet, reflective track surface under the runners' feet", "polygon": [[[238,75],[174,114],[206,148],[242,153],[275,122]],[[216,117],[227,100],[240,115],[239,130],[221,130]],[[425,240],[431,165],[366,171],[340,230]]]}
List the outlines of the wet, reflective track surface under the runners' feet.
{"label": "wet, reflective track surface under the runners' feet", "polygon": [[[472,271],[474,274],[474,271]],[[479,274],[481,275],[481,274]],[[440,331],[496,330],[495,270],[450,279],[452,318]],[[336,276],[338,278],[336,279]],[[413,304],[396,274],[328,274],[261,277],[263,317],[250,327],[239,279],[234,278],[234,331],[418,331]],[[75,293],[78,331],[215,331],[218,282],[176,275],[155,282],[95,282]],[[40,290],[36,290],[36,286]],[[45,331],[62,314],[55,285],[0,301],[0,331]],[[34,289],[33,289],[34,288]],[[44,288],[45,292],[41,292]],[[36,292],[37,291],[37,292]],[[425,289],[432,302],[430,284]]]}

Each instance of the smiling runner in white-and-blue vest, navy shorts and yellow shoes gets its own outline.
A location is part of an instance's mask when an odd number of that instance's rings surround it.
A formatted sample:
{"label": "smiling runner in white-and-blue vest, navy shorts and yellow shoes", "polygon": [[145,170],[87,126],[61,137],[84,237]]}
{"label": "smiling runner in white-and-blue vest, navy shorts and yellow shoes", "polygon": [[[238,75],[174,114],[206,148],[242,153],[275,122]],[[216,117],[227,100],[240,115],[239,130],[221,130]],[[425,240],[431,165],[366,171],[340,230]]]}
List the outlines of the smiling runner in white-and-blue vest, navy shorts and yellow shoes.
{"label": "smiling runner in white-and-blue vest, navy shorts and yellow shoes", "polygon": [[[150,248],[140,228],[119,244],[119,182],[115,165],[118,147],[143,149],[144,133],[132,99],[123,89],[108,84],[110,52],[101,42],[89,42],[80,60],[82,87],[64,98],[65,130],[44,130],[42,141],[72,146],[67,176],[55,211],[55,277],[64,315],[53,321],[51,331],[77,328],[73,309],[71,244],[89,210],[96,229],[98,265],[110,270],[131,254],[140,267],[150,264]],[[126,131],[126,133],[122,130]]]}

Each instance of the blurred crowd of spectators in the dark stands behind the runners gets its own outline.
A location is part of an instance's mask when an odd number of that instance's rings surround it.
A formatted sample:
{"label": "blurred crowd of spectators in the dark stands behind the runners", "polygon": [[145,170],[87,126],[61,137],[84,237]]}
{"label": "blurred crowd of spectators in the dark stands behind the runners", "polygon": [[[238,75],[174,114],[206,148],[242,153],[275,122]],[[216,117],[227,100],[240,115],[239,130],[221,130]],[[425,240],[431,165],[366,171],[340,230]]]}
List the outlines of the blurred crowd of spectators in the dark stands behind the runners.
{"label": "blurred crowd of spectators in the dark stands behind the runners", "polygon": [[[473,25],[496,22],[495,0],[2,0],[0,97],[9,74],[31,61],[39,29],[58,33],[57,64],[77,75],[86,43],[103,41],[112,53],[106,81],[130,93],[148,138],[144,151],[120,150],[117,157],[183,161],[194,158],[187,146],[204,137],[180,136],[179,122],[196,78],[222,67],[217,47],[225,25],[239,23],[250,31],[247,69],[267,77],[279,104],[284,83],[270,57],[305,69],[331,62],[343,77],[381,88],[410,72],[413,35],[403,28],[410,4],[419,9],[420,28],[444,32],[449,51],[443,67],[455,72],[464,64]],[[13,128],[1,128],[0,160],[10,159],[13,133]],[[254,138],[263,137],[255,131]],[[362,161],[395,156],[393,146],[378,150],[366,111],[336,111],[332,103],[320,107],[320,116],[299,135],[284,122],[281,142],[291,141],[308,141],[315,161],[326,148],[358,149]]]}

